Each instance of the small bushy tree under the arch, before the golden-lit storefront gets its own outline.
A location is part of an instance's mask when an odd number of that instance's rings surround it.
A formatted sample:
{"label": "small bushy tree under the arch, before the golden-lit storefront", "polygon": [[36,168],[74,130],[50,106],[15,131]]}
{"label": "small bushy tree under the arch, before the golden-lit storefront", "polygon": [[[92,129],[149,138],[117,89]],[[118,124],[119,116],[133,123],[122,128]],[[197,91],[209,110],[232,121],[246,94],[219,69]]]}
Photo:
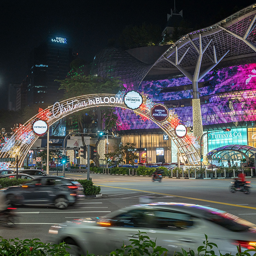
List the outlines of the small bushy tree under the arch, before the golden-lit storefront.
{"label": "small bushy tree under the arch, before the golden-lit storefront", "polygon": [[126,162],[128,164],[134,165],[134,160],[138,159],[138,155],[134,153],[135,144],[126,142],[126,144],[120,144],[114,146],[114,151],[105,154],[105,160],[109,164],[114,164],[117,161],[117,164],[122,164]]}

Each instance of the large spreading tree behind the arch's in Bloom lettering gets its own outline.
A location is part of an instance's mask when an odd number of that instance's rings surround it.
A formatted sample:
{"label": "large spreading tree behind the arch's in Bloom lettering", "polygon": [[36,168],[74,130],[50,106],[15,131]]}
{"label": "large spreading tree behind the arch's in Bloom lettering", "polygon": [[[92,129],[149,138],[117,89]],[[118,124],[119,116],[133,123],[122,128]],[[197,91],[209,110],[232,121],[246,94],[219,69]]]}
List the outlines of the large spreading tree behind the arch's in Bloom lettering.
{"label": "large spreading tree behind the arch's in Bloom lettering", "polygon": [[[56,81],[60,83],[59,90],[64,90],[64,99],[95,93],[116,94],[118,90],[124,89],[123,83],[120,78],[114,77],[103,78],[100,76],[76,75],[72,78],[66,78],[65,80]],[[92,132],[93,128],[96,128],[95,126],[88,126],[88,123],[97,124],[98,130],[108,131],[116,126],[118,118],[114,113],[114,110],[114,108],[109,107],[98,107],[97,111],[95,111],[95,108],[80,110],[78,112],[72,113],[72,116],[74,117],[73,120],[78,124],[78,132],[85,132],[84,126],[86,124],[88,129],[86,130],[86,132]],[[81,134],[81,137],[83,145],[86,146],[84,142],[84,134]],[[102,138],[103,137],[98,138],[98,141],[95,145],[96,147],[98,147],[98,144]],[[97,167],[100,166],[99,158],[100,155],[97,152],[96,157],[93,159]]]}

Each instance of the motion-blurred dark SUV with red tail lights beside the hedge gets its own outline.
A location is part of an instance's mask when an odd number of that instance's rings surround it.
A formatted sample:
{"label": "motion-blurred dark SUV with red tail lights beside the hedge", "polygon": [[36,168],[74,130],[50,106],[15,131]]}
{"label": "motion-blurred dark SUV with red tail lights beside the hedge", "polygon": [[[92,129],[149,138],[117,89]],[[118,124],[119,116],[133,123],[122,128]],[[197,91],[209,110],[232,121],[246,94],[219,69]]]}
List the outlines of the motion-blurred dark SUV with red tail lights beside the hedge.
{"label": "motion-blurred dark SUV with red tail lights beside the hedge", "polygon": [[42,176],[1,191],[11,204],[54,204],[58,209],[65,209],[85,197],[84,188],[79,182],[58,176]]}

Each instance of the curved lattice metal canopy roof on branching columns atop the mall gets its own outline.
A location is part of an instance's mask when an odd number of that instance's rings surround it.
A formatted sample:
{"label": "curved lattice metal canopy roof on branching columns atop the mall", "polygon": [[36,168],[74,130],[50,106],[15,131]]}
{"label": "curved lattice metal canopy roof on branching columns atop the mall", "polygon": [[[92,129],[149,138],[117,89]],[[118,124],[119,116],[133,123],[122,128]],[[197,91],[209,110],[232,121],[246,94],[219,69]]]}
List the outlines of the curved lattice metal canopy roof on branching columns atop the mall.
{"label": "curved lattice metal canopy roof on branching columns atop the mall", "polygon": [[[197,64],[199,52],[204,53],[202,65],[212,64],[211,68],[222,59],[251,56],[256,51],[255,20],[256,4],[252,4],[208,28],[186,34],[172,44],[156,61],[154,68],[192,68]],[[208,73],[207,70],[204,72]]]}

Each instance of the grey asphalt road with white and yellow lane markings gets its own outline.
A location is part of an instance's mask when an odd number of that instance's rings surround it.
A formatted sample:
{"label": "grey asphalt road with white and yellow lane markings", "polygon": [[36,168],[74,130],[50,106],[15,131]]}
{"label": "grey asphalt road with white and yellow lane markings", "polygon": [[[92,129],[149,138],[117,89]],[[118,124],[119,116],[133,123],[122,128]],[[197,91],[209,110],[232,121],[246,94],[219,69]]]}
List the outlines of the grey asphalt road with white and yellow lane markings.
{"label": "grey asphalt road with white and yellow lane markings", "polygon": [[[67,173],[67,177],[82,179],[86,174]],[[256,224],[256,178],[251,178],[251,194],[232,194],[228,190],[231,179],[185,180],[164,178],[161,183],[150,177],[90,174],[95,185],[101,186],[102,197],[85,199],[66,210],[51,206],[18,206],[20,224],[15,228],[1,227],[0,236],[8,238],[48,239],[52,224],[74,218],[103,216],[125,206],[138,204],[140,197],[157,202],[201,204],[230,212]],[[144,198],[145,200],[145,198]]]}

